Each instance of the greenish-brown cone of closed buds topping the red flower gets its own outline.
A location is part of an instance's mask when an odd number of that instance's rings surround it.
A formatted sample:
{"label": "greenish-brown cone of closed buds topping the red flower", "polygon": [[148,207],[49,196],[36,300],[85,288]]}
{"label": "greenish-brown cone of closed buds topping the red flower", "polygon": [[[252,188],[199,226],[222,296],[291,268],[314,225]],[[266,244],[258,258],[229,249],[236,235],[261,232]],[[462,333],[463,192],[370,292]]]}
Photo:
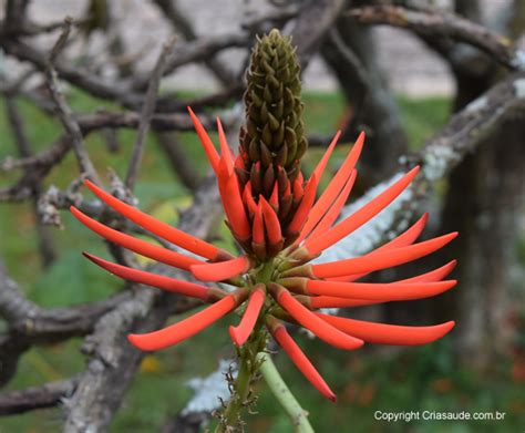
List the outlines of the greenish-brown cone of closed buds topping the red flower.
{"label": "greenish-brown cone of closed buds topping the red flower", "polygon": [[[279,167],[290,181],[299,173],[307,148],[300,93],[296,50],[290,38],[274,29],[258,39],[253,50],[245,93],[246,124],[240,134],[246,172],[253,173],[251,165],[260,162],[261,185],[272,185]],[[260,193],[267,196],[268,189]]]}

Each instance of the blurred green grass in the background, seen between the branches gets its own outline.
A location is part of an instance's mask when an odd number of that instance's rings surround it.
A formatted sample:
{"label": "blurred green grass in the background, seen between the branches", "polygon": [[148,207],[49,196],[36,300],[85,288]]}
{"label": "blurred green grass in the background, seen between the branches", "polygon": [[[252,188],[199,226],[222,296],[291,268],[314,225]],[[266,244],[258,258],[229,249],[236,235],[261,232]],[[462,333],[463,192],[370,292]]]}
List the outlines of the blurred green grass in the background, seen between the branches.
{"label": "blurred green grass in the background, seen between the branches", "polygon": [[[106,106],[82,93],[69,96],[75,110],[87,112]],[[442,99],[399,99],[403,121],[412,148],[432,135],[446,120],[449,102]],[[47,148],[61,133],[58,123],[42,115],[28,104],[20,104],[28,124],[28,133],[34,151]],[[307,94],[306,120],[309,132],[331,134],[343,112],[343,100],[337,94]],[[14,153],[12,136],[0,113],[2,144],[0,158]],[[100,134],[86,140],[95,166],[106,179],[107,167],[121,176],[130,158],[134,133],[120,131],[121,151],[107,152]],[[194,134],[182,134],[187,152],[195,164],[197,175],[205,173],[206,163]],[[343,147],[344,148],[344,147]],[[307,169],[318,161],[320,151],[312,150],[306,161]],[[337,155],[336,155],[337,156]],[[47,186],[65,187],[76,175],[75,161],[69,155],[50,176]],[[0,174],[0,186],[12,183],[18,172]],[[167,221],[176,219],[176,208],[187,206],[187,192],[174,181],[165,158],[154,140],[150,140],[136,188],[141,207]],[[116,278],[107,276],[83,260],[80,251],[90,250],[105,255],[104,246],[71,218],[62,213],[64,229],[52,229],[60,251],[59,260],[47,272],[40,269],[34,250],[35,234],[31,206],[0,205],[0,256],[7,261],[10,274],[20,282],[28,296],[45,307],[68,306],[76,302],[103,299],[119,290]],[[28,271],[30,270],[30,271]],[[231,357],[227,318],[176,348],[147,357],[135,379],[111,431],[158,431],[168,415],[174,415],[191,396],[185,382],[195,375],[206,375],[215,370],[223,357]],[[378,355],[361,350],[346,353],[327,348],[318,341],[299,337],[300,344],[339,394],[337,405],[325,401],[295,370],[282,354],[277,364],[291,390],[310,412],[318,432],[470,432],[521,431],[525,425],[524,406],[518,384],[509,380],[508,361],[503,360],[492,375],[480,378],[469,369],[455,365],[447,340],[424,348],[410,348],[397,355]],[[24,389],[50,380],[68,378],[82,371],[84,357],[80,353],[80,340],[33,348],[20,362],[16,379],[8,390]],[[248,419],[248,431],[289,432],[290,424],[276,404],[275,399],[261,384],[258,414]],[[387,424],[375,421],[375,410],[409,411],[504,411],[505,423],[491,422],[415,422]],[[519,413],[522,420],[518,419]],[[20,416],[0,419],[0,432],[60,431],[60,409],[43,410]]]}

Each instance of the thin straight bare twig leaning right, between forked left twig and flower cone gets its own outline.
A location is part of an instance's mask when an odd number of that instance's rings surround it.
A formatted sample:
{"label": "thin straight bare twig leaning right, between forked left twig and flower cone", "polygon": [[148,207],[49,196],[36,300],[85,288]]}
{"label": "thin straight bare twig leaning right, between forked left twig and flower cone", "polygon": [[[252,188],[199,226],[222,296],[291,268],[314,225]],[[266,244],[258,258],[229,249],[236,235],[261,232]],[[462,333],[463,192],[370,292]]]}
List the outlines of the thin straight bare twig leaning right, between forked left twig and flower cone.
{"label": "thin straight bare twig leaning right, between forked left twig and flower cone", "polygon": [[175,44],[175,38],[172,38],[166,44],[163,45],[161,54],[158,55],[157,63],[153,70],[150,85],[147,87],[146,97],[144,105],[141,111],[141,120],[138,122],[138,132],[136,134],[135,145],[133,147],[132,158],[130,167],[127,169],[125,185],[132,190],[135,185],[136,176],[138,174],[138,166],[141,165],[142,154],[144,153],[144,145],[146,142],[147,131],[155,111],[155,103],[157,99],[158,86],[161,85],[161,79],[166,66],[166,60],[173,51]]}

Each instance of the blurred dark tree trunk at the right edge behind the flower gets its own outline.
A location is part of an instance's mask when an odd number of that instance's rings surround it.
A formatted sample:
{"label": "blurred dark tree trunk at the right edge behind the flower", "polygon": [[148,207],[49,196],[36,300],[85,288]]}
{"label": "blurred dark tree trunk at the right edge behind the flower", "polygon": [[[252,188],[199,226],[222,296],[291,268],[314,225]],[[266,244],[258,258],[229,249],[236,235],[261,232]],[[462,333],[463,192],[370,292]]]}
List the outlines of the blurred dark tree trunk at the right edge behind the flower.
{"label": "blurred dark tree trunk at the right edge behind the flower", "polygon": [[[456,3],[480,19],[476,8]],[[485,54],[471,53],[477,68],[455,69],[460,110],[494,83],[498,69]],[[467,72],[471,71],[471,72]],[[455,351],[478,370],[494,365],[508,351],[513,329],[512,268],[516,266],[518,215],[525,204],[525,125],[523,110],[513,113],[478,151],[454,168],[442,213],[441,230],[459,230],[451,246],[459,259],[459,290],[442,298],[437,316],[457,323]]]}

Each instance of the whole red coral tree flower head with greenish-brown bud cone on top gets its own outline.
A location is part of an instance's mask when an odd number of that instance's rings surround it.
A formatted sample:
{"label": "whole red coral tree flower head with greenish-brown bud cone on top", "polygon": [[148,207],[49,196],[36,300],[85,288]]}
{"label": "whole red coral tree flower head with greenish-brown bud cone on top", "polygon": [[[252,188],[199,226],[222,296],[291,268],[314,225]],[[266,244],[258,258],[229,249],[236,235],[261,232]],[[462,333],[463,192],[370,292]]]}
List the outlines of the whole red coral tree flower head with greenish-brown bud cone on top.
{"label": "whole red coral tree flower head with greenish-brown bud cone on top", "polygon": [[[362,208],[342,220],[339,213],[356,181],[356,164],[364,143],[361,134],[340,169],[323,192],[318,192],[340,133],[337,133],[317,167],[305,179],[300,158],[307,142],[300,114],[299,66],[288,39],[272,31],[254,50],[245,96],[247,120],[241,131],[239,154],[234,155],[217,118],[217,151],[194,112],[188,109],[209,164],[217,177],[226,224],[244,254],[234,257],[107,194],[92,182],[85,185],[103,203],[145,230],[172,243],[187,256],[136,239],[95,221],[72,207],[86,227],[111,243],[142,256],[191,272],[202,281],[220,281],[219,289],[113,264],[85,254],[94,264],[130,281],[200,299],[208,307],[162,330],[131,334],[138,349],[164,349],[204,330],[228,312],[241,313],[229,333],[238,347],[248,341],[257,324],[268,332],[296,367],[326,398],[336,395],[288,333],[285,322],[303,327],[317,338],[343,350],[364,342],[381,344],[425,344],[446,334],[454,322],[428,327],[370,323],[330,316],[322,308],[358,308],[380,302],[422,299],[453,288],[445,280],[455,261],[413,278],[372,283],[359,280],[370,272],[406,264],[428,256],[450,243],[457,234],[416,241],[426,215],[388,244],[362,257],[311,264],[323,250],[367,224],[410,185],[414,167]],[[316,197],[318,197],[316,199]],[[195,258],[195,256],[200,257]]]}

